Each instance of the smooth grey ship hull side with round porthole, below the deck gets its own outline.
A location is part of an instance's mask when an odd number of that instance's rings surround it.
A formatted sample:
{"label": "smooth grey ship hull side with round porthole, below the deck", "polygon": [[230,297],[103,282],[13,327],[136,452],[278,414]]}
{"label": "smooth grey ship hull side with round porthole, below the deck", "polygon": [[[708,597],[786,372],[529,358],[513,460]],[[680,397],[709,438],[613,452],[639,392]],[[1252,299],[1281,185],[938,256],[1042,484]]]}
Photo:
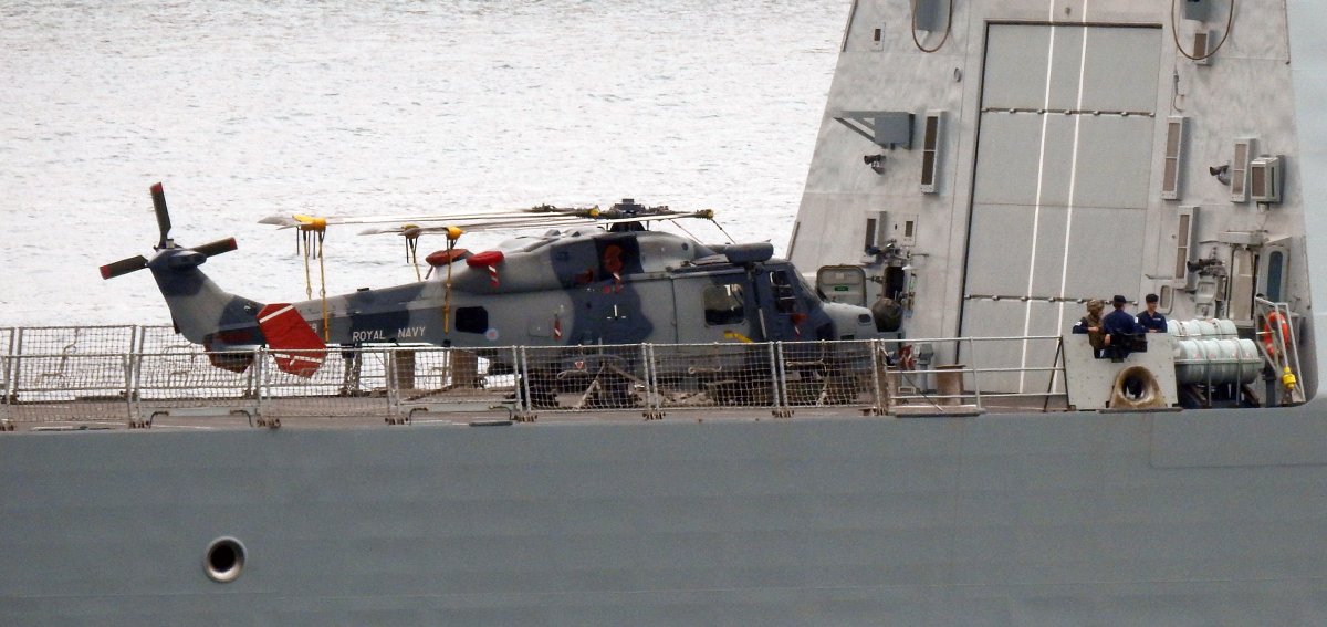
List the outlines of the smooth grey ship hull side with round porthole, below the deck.
{"label": "smooth grey ship hull side with round porthole, below the deck", "polygon": [[1315,408],[12,436],[0,614],[1324,624],[1324,440]]}

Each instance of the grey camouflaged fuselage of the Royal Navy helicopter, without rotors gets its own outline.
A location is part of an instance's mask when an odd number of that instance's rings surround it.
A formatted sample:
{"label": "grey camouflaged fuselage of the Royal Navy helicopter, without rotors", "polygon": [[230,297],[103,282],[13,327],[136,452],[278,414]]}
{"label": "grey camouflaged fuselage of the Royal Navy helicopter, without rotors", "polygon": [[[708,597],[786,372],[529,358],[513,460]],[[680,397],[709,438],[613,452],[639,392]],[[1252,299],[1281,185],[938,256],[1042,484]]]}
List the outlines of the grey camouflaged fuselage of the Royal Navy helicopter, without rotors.
{"label": "grey camouflaged fuselage of the Royal Navy helicopter, without rotors", "polygon": [[[791,264],[768,258],[768,244],[715,248],[634,230],[520,236],[496,248],[491,267],[456,260],[418,283],[328,298],[325,337],[496,348],[876,336],[868,310],[821,303]],[[167,263],[174,255],[196,263]],[[264,343],[263,306],[222,291],[198,263],[184,248],[149,263],[180,332],[216,351]],[[322,300],[293,304],[322,336]]]}

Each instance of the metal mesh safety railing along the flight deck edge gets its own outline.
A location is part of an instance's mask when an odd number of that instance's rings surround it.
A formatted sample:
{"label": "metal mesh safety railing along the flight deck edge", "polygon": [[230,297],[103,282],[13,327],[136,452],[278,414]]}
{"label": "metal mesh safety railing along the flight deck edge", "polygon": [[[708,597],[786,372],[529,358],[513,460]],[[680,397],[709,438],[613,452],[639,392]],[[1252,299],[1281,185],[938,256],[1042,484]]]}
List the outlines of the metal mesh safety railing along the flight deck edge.
{"label": "metal mesh safety railing along the flight deck edge", "polygon": [[[0,420],[127,422],[231,416],[281,418],[434,414],[533,420],[544,413],[767,410],[869,414],[1063,408],[1060,339],[963,337],[805,343],[442,348],[372,345],[311,355],[304,377],[281,352],[207,353],[169,327],[0,328]],[[1031,347],[1031,349],[1030,349]],[[289,352],[284,352],[288,353]],[[937,364],[936,355],[961,356]],[[1010,367],[1010,356],[1022,363]],[[1028,363],[1028,355],[1040,363]],[[1050,356],[1050,359],[1047,359]],[[1058,401],[1058,403],[1056,403]]]}

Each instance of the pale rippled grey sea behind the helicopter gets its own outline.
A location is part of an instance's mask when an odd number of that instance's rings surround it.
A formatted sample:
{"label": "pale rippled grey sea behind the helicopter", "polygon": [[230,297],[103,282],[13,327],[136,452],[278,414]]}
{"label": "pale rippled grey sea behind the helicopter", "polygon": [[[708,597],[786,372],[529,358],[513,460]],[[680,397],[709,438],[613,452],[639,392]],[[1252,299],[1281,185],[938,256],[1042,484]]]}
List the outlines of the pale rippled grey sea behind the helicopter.
{"label": "pale rippled grey sea behind the helicopter", "polygon": [[[848,5],[0,3],[0,327],[167,323],[150,275],[97,272],[150,252],[158,181],[176,242],[236,236],[206,270],[263,302],[305,298],[281,213],[630,197],[782,252]],[[397,236],[325,252],[329,294],[414,280]]]}

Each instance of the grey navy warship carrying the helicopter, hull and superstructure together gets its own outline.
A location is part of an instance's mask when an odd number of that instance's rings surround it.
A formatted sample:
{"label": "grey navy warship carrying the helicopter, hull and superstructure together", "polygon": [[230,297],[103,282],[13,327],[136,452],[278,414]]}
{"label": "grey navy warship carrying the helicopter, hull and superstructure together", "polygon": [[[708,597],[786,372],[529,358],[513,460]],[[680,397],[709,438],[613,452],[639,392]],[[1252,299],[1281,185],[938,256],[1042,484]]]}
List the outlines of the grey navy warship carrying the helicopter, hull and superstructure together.
{"label": "grey navy warship carrying the helicopter, hull and superstructure together", "polygon": [[[648,420],[44,433],[25,422],[37,384],[15,372],[32,361],[11,348],[3,406],[20,429],[0,434],[0,615],[1327,623],[1318,9],[845,7],[788,256],[825,302],[874,312],[869,343],[886,351],[855,379],[869,403],[792,393],[794,375],[837,388],[771,359],[778,372],[755,381],[782,383],[763,400]],[[1120,295],[1136,314],[1148,294],[1169,332],[1099,359],[1092,333],[1071,331],[1093,300]],[[527,353],[514,355],[519,368]],[[61,372],[74,359],[56,357]],[[161,388],[135,368],[118,401],[74,401],[188,413],[153,409]],[[445,409],[410,405],[422,372],[386,377],[397,413]],[[253,385],[234,397],[238,422],[280,406]],[[535,409],[528,389],[514,403],[518,418]]]}

